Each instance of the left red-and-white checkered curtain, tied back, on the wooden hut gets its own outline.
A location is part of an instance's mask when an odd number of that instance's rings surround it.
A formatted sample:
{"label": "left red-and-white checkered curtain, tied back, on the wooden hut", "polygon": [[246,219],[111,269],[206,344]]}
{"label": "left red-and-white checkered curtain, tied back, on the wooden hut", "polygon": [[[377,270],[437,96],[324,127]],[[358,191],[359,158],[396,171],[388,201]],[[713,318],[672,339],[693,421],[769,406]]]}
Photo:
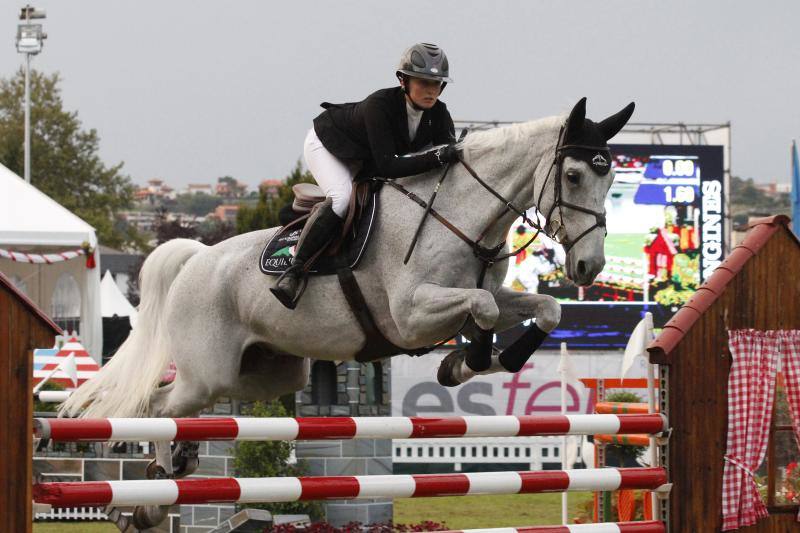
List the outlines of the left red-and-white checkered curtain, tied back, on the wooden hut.
{"label": "left red-and-white checkered curtain, tied back, on the wooden hut", "polygon": [[728,443],[722,478],[722,531],[756,523],[767,516],[753,472],[767,451],[775,375],[777,331],[729,331],[733,358],[728,376]]}

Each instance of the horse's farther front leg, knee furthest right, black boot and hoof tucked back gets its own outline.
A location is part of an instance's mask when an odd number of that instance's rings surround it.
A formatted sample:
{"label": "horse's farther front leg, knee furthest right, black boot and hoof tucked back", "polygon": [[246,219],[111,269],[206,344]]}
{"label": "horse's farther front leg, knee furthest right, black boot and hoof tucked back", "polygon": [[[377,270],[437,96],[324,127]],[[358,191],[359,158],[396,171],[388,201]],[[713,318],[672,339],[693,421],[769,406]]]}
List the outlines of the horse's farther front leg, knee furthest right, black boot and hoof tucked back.
{"label": "horse's farther front leg, knee furthest right, black boot and hoof tucked back", "polygon": [[[459,358],[457,352],[448,354],[439,367],[439,382],[442,385],[452,386],[450,384],[453,382],[464,383],[478,374],[519,372],[561,320],[561,306],[552,296],[502,287],[494,298],[500,310],[495,330],[506,330],[529,318],[535,318],[536,322],[511,346],[493,354],[489,368],[475,371],[465,364],[463,357]],[[470,336],[471,333],[467,335]]]}

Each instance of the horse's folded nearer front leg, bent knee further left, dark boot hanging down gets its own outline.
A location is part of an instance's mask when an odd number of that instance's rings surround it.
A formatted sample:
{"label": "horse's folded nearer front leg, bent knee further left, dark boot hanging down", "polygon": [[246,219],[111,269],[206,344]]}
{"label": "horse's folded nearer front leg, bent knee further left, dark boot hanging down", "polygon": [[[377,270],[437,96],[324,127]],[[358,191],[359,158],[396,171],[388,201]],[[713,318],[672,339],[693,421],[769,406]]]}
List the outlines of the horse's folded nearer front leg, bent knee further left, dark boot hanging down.
{"label": "horse's folded nearer front leg, bent knee further left, dark boot hanging down", "polygon": [[[409,344],[426,344],[424,339],[441,338],[443,331],[455,331],[465,319],[472,318],[471,341],[468,346],[454,352],[459,361],[473,372],[491,366],[492,338],[499,309],[494,296],[483,289],[458,289],[423,283],[413,293],[410,306],[393,314],[400,334]],[[453,380],[439,381],[443,385],[458,385]],[[446,376],[445,376],[446,377]]]}

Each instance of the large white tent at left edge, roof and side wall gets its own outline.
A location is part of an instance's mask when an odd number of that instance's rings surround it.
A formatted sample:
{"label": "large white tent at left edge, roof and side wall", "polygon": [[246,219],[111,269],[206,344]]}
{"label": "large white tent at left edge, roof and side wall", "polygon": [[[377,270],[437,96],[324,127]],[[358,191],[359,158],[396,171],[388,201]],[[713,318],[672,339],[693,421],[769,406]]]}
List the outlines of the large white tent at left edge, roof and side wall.
{"label": "large white tent at left edge, roof and side wall", "polygon": [[[25,262],[23,257],[75,251],[83,243],[95,250],[97,267],[87,268],[83,255],[52,264]],[[96,250],[92,226],[0,165],[0,271],[56,321],[79,318],[81,341],[100,362],[103,325]],[[8,252],[17,252],[18,260],[8,258]]]}

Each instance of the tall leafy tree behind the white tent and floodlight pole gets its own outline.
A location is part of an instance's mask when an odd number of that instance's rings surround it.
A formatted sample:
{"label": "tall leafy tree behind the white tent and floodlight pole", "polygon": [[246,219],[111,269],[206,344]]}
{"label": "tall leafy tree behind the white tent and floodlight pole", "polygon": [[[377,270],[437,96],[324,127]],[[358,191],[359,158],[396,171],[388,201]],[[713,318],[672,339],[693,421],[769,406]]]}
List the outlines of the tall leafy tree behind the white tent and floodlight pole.
{"label": "tall leafy tree behind the white tent and floodlight pole", "polygon": [[[31,183],[97,230],[112,247],[135,241],[115,225],[128,208],[134,186],[122,163],[107,167],[98,155],[97,131],[83,129],[78,113],[61,100],[58,73],[31,71]],[[0,79],[0,162],[20,176],[24,166],[25,74]]]}

